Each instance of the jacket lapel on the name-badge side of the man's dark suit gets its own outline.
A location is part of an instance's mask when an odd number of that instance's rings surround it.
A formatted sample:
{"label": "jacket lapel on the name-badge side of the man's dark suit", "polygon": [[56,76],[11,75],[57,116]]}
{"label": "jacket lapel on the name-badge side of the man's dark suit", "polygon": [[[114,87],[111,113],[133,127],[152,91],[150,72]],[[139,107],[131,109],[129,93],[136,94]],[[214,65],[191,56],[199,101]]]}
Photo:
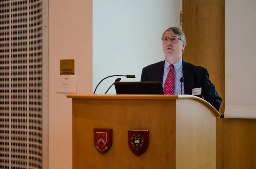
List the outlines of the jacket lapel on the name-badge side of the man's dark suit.
{"label": "jacket lapel on the name-badge side of the man's dark suit", "polygon": [[192,68],[190,67],[190,65],[182,60],[182,74],[184,77],[185,95],[192,95],[194,75],[193,73],[191,73],[191,70]]}

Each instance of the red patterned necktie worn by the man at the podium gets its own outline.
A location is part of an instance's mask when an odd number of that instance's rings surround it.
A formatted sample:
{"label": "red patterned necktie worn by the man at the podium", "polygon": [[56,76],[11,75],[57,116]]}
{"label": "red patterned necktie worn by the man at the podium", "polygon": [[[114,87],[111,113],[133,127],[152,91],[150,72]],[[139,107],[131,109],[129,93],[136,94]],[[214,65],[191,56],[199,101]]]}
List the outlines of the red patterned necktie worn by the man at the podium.
{"label": "red patterned necktie worn by the man at the podium", "polygon": [[173,65],[170,66],[170,71],[168,72],[168,75],[166,77],[165,83],[164,83],[164,94],[165,95],[173,95],[174,94],[174,72],[173,72]]}

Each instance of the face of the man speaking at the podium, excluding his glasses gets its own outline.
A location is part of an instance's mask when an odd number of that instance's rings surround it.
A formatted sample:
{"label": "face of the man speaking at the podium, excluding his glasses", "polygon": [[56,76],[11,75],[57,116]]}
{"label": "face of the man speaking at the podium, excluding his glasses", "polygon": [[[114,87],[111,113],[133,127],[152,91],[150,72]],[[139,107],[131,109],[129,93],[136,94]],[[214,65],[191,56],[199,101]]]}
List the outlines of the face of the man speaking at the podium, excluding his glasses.
{"label": "face of the man speaking at the podium, excluding his glasses", "polygon": [[[166,31],[164,33],[163,37],[172,37],[172,36],[176,36],[176,35],[173,35],[173,33],[170,31]],[[177,37],[179,37],[179,36],[177,36]],[[176,39],[177,39],[176,42],[173,42],[170,39],[168,39],[167,42],[163,41],[162,45],[163,45],[163,52],[164,52],[165,56],[173,56],[173,57],[181,57],[182,56],[182,49],[185,48],[187,43],[182,42],[178,38],[176,38]]]}

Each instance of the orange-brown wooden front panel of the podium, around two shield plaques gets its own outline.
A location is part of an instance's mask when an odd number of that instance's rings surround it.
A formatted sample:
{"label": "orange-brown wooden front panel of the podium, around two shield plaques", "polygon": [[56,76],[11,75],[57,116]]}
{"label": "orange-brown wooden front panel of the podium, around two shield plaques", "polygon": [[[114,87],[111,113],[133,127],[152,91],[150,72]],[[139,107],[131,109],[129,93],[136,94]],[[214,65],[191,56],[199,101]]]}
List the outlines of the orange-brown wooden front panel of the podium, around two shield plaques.
{"label": "orange-brown wooden front panel of the podium, around two shield plaques", "polygon": [[[73,168],[175,169],[175,100],[72,100]],[[93,128],[113,128],[112,148],[106,154],[96,150]],[[149,130],[143,155],[129,149],[128,129]]]}

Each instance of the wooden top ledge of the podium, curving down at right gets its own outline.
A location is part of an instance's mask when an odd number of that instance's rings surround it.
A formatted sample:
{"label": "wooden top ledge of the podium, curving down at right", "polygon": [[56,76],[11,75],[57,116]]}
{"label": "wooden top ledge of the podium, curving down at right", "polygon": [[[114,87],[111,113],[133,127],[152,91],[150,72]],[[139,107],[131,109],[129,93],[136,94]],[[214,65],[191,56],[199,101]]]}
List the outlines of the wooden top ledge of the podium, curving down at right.
{"label": "wooden top ledge of the podium, curving down at right", "polygon": [[192,95],[83,95],[83,94],[68,94],[67,98],[78,98],[78,99],[146,99],[146,100],[177,100],[177,99],[192,99],[201,102],[210,110],[212,110],[216,116],[220,117],[219,112],[207,101],[202,98]]}

